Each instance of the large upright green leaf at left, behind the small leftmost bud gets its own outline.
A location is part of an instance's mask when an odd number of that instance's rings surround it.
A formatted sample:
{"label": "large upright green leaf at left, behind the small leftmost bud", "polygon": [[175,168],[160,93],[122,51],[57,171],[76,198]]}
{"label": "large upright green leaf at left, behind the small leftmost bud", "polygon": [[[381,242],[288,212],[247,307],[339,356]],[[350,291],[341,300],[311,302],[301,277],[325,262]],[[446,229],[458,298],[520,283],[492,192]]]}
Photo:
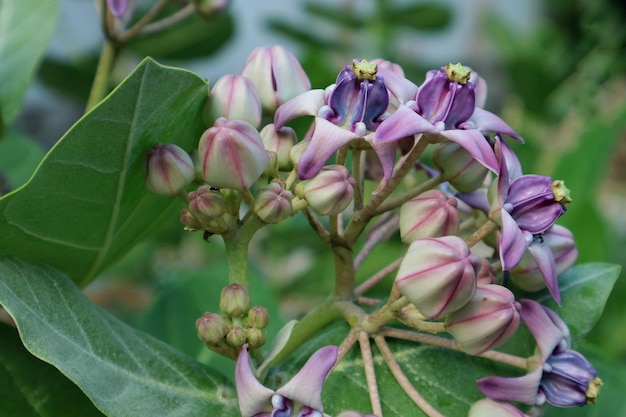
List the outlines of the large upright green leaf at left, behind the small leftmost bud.
{"label": "large upright green leaf at left, behind the small leftmost bud", "polygon": [[79,120],[22,188],[0,199],[0,255],[51,265],[79,285],[175,215],[151,195],[143,157],[157,142],[193,149],[206,83],[146,59]]}

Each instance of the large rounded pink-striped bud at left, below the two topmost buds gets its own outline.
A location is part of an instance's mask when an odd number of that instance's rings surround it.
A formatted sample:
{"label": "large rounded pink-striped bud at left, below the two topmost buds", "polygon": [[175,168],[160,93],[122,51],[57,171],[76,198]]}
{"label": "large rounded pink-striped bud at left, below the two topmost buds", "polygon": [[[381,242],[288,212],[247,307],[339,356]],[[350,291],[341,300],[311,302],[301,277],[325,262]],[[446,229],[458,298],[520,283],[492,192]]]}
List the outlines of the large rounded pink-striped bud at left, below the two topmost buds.
{"label": "large rounded pink-striped bud at left, below the two topmost buds", "polygon": [[198,145],[202,177],[214,187],[250,187],[269,164],[259,132],[249,123],[220,117]]}

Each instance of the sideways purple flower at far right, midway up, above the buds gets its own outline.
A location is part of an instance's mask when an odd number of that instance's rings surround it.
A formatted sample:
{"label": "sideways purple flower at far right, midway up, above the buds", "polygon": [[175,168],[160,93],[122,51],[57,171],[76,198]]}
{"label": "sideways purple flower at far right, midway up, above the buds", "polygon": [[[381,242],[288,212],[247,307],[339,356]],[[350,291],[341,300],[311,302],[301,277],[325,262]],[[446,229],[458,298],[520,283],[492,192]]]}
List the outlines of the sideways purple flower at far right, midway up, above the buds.
{"label": "sideways purple flower at far right, midway up, above the buds", "polygon": [[[528,249],[544,277],[552,297],[560,303],[554,255],[542,234],[565,212],[571,202],[562,181],[541,175],[522,175],[519,160],[500,138],[495,145],[500,167],[492,188],[489,217],[502,226],[500,259],[502,268],[515,267]],[[494,193],[496,194],[494,196]]]}

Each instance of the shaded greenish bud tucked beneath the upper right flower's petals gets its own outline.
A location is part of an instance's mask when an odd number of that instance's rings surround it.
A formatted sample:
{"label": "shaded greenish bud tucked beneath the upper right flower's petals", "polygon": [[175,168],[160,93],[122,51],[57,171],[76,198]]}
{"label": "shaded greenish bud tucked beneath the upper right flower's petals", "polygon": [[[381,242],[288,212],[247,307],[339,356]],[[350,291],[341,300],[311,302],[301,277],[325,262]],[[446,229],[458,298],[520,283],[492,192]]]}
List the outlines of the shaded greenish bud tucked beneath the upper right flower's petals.
{"label": "shaded greenish bud tucked beneath the upper right flower's petals", "polygon": [[489,170],[454,142],[443,142],[433,151],[433,164],[444,178],[458,191],[476,191]]}

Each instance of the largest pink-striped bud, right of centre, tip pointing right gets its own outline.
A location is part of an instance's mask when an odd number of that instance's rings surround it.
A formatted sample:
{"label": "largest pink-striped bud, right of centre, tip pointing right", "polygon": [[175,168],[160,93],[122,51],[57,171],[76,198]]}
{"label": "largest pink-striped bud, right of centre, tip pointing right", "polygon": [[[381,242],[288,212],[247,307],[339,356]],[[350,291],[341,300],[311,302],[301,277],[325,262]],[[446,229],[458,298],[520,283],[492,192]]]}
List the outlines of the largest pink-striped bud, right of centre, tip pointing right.
{"label": "largest pink-striped bud, right of centre, tip pointing right", "polygon": [[470,301],[479,269],[480,259],[457,236],[418,239],[400,264],[396,284],[425,317],[436,319]]}

